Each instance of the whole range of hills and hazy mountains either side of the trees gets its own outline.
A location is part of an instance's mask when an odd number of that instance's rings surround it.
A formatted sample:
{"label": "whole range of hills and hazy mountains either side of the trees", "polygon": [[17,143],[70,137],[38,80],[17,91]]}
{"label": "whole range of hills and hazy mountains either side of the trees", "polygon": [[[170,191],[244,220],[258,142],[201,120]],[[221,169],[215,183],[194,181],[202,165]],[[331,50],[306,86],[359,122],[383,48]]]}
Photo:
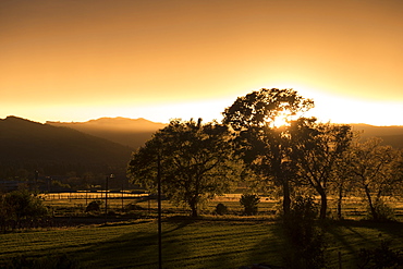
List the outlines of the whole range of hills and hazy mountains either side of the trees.
{"label": "whole range of hills and hazy mountains either side of the trees", "polygon": [[[403,126],[351,125],[354,131],[362,132],[363,139],[378,136],[386,145],[403,148]],[[42,124],[7,117],[0,119],[0,172],[12,166],[14,170],[33,170],[40,166],[56,166],[58,171],[60,167],[73,170],[69,166],[75,170],[77,167],[84,170],[119,166],[124,170],[133,150],[164,126],[167,124],[145,119],[101,118]],[[30,163],[28,168],[27,163]]]}

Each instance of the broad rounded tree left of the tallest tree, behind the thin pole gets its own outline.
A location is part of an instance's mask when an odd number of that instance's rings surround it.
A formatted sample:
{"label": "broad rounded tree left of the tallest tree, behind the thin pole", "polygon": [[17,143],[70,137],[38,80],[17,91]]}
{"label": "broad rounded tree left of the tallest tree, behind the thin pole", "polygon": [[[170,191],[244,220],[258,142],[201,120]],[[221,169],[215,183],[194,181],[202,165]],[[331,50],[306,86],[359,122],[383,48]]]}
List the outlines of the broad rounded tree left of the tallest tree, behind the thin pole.
{"label": "broad rounded tree left of the tallest tree, behind the thin pole", "polygon": [[173,120],[133,155],[129,174],[155,189],[159,158],[164,195],[196,217],[200,203],[228,192],[239,178],[229,139],[228,127],[216,122]]}

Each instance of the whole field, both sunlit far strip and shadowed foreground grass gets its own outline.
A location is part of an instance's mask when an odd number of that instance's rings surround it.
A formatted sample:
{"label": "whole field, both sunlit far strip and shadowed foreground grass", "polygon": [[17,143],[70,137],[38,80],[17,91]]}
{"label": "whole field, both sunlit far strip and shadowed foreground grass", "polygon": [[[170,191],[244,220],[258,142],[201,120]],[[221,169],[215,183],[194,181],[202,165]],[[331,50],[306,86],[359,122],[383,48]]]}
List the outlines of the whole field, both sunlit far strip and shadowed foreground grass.
{"label": "whole field, both sunlit far strip and shadowed foreground grass", "polygon": [[[47,199],[54,216],[83,218],[85,199]],[[121,199],[110,199],[109,220],[87,218],[93,224],[21,230],[0,234],[0,268],[14,260],[40,260],[68,255],[81,268],[158,268],[156,203],[124,199],[123,206],[136,203],[144,210],[135,217],[122,211]],[[225,204],[228,216],[213,216],[216,205]],[[284,240],[282,222],[276,216],[278,201],[262,199],[256,217],[242,216],[235,198],[220,198],[205,205],[202,218],[190,219],[188,210],[164,200],[162,223],[163,268],[239,268],[267,262],[283,266],[290,245]],[[333,207],[330,203],[331,208]],[[402,205],[394,204],[398,220]],[[126,215],[127,213],[127,215]],[[132,212],[133,213],[133,212]],[[130,218],[132,216],[132,219]],[[325,223],[326,260],[329,268],[357,268],[361,248],[375,248],[390,241],[393,249],[403,250],[403,223],[362,221],[365,208],[359,199],[346,200],[344,221]],[[109,221],[102,224],[102,221]],[[90,223],[90,222],[89,222]],[[22,258],[23,257],[23,258]],[[286,257],[285,257],[286,259]]]}

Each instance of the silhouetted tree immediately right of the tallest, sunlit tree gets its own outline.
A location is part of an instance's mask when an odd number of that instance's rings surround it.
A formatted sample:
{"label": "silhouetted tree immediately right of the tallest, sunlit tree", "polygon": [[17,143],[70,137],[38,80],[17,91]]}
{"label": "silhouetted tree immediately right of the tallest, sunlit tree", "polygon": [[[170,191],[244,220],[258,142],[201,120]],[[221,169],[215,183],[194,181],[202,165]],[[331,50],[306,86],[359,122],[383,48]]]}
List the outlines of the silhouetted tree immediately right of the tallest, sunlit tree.
{"label": "silhouetted tree immediately right of the tallest, sunlit tree", "polygon": [[335,178],[335,166],[349,149],[352,137],[349,125],[318,123],[314,118],[301,118],[292,123],[291,158],[298,168],[298,178],[320,195],[320,219],[326,218],[328,188]]}

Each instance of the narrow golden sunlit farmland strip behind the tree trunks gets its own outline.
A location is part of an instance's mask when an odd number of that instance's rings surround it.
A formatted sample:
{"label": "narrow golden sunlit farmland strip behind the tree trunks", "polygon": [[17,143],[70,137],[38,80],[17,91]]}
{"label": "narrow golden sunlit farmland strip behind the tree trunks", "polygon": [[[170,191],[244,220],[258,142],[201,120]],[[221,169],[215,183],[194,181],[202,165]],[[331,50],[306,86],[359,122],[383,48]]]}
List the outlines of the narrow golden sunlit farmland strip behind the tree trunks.
{"label": "narrow golden sunlit farmland strip behind the tree trunks", "polygon": [[[61,198],[59,198],[61,197]],[[49,195],[45,196],[45,205],[52,208],[56,216],[86,216],[84,213],[85,207],[94,199],[100,199],[105,203],[105,195],[101,196],[94,196],[91,194],[88,195],[90,198],[86,198],[85,194],[77,194],[77,193],[64,193],[61,196],[59,195]],[[202,208],[203,215],[211,215],[218,203],[222,203],[228,206],[230,210],[230,215],[242,215],[242,206],[240,205],[240,194],[229,194],[225,196],[216,197],[213,200],[208,201]],[[319,199],[319,197],[317,197]],[[319,200],[317,200],[319,203]],[[155,217],[157,210],[157,201],[156,199],[142,199],[142,196],[137,195],[130,195],[127,197],[121,198],[120,194],[111,195],[109,194],[108,198],[108,212],[110,213],[120,213],[122,212],[122,208],[124,211],[127,211],[126,207],[130,204],[135,204],[144,210],[137,210],[136,213],[141,213],[148,217]],[[395,219],[403,221],[403,203],[396,199],[389,199],[388,205],[393,208]],[[105,205],[102,205],[105,206]],[[164,216],[188,216],[188,210],[184,207],[176,207],[173,206],[168,200],[162,200],[162,208],[164,210]],[[262,196],[258,206],[258,216],[265,218],[274,218],[278,213],[278,210],[281,208],[281,203],[279,200],[272,199],[270,197]],[[329,197],[329,211],[335,212],[335,199],[333,197]],[[102,208],[102,211],[105,208]],[[366,204],[362,198],[358,197],[350,197],[344,198],[343,200],[343,217],[350,220],[362,220],[366,217]],[[329,217],[335,217],[330,215]]]}

